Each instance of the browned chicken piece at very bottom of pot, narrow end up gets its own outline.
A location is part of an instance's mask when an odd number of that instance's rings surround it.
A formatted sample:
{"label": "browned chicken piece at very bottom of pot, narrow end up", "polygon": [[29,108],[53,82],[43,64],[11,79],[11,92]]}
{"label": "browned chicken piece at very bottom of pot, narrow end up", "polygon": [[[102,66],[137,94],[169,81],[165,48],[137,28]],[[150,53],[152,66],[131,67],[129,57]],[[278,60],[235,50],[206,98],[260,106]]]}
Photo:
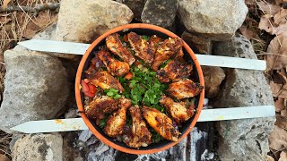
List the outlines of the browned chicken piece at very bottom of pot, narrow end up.
{"label": "browned chicken piece at very bottom of pot, narrow end up", "polygon": [[132,136],[125,140],[128,147],[147,147],[152,143],[152,133],[147,129],[139,106],[129,107],[132,116]]}

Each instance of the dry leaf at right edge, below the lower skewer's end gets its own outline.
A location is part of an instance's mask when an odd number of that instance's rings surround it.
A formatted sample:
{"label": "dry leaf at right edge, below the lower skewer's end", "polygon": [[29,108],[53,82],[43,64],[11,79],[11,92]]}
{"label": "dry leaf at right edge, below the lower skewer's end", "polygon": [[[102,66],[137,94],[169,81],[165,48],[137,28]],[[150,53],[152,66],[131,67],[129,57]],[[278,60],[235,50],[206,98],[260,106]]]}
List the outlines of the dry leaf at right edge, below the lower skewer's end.
{"label": "dry leaf at right edge, below the lower skewer's end", "polygon": [[274,150],[287,148],[287,131],[275,125],[269,136],[269,147]]}

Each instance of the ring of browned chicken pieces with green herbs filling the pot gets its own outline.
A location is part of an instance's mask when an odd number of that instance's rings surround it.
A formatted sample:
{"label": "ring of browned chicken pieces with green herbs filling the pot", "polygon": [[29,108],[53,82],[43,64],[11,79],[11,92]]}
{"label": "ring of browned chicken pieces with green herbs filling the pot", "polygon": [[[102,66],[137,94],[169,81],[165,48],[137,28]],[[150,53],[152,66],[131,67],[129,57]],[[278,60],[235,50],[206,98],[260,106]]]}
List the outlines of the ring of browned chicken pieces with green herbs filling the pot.
{"label": "ring of browned chicken pieces with green herbs filling the pot", "polygon": [[82,80],[84,113],[111,138],[130,148],[178,141],[195,114],[204,87],[191,77],[180,38],[129,32],[109,35]]}

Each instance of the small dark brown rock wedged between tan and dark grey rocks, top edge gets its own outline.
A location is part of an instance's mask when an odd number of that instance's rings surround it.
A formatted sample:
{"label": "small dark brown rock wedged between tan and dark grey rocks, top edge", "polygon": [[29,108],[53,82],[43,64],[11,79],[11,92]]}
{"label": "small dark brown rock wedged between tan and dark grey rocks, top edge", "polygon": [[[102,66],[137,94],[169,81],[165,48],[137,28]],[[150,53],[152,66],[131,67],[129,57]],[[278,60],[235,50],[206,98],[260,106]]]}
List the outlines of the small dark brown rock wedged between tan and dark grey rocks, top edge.
{"label": "small dark brown rock wedged between tan and dark grey rocks, top edge", "polygon": [[143,13],[143,7],[145,0],[116,0],[118,3],[126,4],[134,13],[134,18],[140,21],[141,15]]}

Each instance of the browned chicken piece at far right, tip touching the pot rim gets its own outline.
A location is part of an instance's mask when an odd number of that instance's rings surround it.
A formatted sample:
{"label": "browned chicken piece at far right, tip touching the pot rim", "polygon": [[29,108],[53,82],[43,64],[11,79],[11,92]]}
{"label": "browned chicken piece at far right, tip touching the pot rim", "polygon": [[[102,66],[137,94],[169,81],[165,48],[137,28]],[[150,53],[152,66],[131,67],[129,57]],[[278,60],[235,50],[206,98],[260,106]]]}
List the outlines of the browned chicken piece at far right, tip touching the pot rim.
{"label": "browned chicken piece at far right, tip touching the pot rim", "polygon": [[194,82],[193,80],[179,80],[177,82],[170,83],[169,89],[167,92],[170,93],[172,97],[177,97],[178,99],[195,97],[202,90],[204,86],[201,86],[199,83]]}

